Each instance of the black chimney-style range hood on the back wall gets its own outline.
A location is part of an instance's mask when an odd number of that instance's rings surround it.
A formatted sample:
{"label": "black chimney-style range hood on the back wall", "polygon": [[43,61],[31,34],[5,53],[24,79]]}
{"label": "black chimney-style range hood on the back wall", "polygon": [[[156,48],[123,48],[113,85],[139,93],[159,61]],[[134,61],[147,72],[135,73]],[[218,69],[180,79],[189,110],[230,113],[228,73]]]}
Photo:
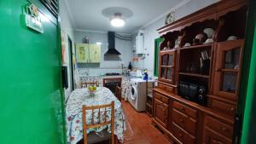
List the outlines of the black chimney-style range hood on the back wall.
{"label": "black chimney-style range hood on the back wall", "polygon": [[108,32],[108,49],[104,55],[121,55],[117,49],[115,49],[115,33]]}

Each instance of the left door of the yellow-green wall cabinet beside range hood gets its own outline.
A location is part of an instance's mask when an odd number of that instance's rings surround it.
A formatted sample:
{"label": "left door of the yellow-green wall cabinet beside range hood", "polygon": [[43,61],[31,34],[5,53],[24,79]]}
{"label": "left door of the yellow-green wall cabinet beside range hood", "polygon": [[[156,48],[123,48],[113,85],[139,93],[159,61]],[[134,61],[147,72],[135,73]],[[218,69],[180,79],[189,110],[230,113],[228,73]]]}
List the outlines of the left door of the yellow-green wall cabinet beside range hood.
{"label": "left door of the yellow-green wall cabinet beside range hood", "polygon": [[86,43],[76,44],[76,55],[78,63],[89,63],[89,48]]}

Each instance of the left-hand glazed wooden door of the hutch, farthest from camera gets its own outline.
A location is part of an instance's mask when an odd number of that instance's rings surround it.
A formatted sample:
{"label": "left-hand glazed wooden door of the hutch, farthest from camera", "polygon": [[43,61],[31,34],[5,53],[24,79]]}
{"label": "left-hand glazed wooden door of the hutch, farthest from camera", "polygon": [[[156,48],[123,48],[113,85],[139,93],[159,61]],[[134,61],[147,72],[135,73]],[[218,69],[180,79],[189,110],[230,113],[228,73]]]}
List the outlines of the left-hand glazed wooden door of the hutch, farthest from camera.
{"label": "left-hand glazed wooden door of the hutch, farthest from camera", "polygon": [[169,84],[176,84],[176,50],[160,51],[159,78]]}

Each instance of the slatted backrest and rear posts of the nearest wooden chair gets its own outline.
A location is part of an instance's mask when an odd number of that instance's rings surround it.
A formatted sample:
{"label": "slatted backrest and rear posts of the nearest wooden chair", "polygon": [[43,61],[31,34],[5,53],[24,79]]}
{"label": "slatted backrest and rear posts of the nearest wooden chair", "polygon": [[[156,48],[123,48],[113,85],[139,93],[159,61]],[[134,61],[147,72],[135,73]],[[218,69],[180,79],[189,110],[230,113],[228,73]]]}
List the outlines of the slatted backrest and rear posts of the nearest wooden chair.
{"label": "slatted backrest and rear posts of the nearest wooden chair", "polygon": [[[108,108],[108,109],[107,109]],[[111,118],[108,120],[108,111],[111,111]],[[104,111],[102,111],[102,109]],[[97,112],[95,112],[97,110]],[[91,123],[87,124],[86,122],[86,111],[91,111]],[[103,112],[103,115],[101,113]],[[97,122],[95,119],[95,114],[97,114]],[[93,107],[86,107],[83,106],[83,127],[84,127],[84,144],[87,144],[87,130],[98,128],[104,125],[111,125],[111,141],[114,144],[114,101],[108,105],[101,105],[101,106],[93,106]]]}

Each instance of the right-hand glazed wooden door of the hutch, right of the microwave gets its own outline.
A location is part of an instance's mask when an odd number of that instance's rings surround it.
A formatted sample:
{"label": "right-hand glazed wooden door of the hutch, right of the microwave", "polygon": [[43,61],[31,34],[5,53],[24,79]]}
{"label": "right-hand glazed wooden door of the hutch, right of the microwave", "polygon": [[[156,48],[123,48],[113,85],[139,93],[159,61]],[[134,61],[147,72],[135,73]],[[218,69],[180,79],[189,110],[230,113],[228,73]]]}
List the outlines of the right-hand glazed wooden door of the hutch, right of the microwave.
{"label": "right-hand glazed wooden door of the hutch, right of the microwave", "polygon": [[214,95],[237,100],[243,43],[244,40],[218,43],[212,80]]}

